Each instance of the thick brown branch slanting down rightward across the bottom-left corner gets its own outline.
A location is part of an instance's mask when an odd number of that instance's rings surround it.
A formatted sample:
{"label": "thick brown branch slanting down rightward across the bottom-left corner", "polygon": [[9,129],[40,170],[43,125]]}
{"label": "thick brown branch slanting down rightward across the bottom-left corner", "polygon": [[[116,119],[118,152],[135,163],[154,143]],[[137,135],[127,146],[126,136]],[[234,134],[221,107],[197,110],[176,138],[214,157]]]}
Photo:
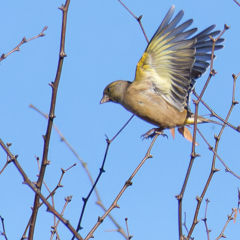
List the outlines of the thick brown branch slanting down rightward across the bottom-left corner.
{"label": "thick brown branch slanting down rightward across the bottom-left corner", "polygon": [[72,227],[70,222],[66,219],[64,219],[52,206],[49,204],[47,199],[42,195],[42,193],[39,191],[39,189],[29,180],[26,173],[23,171],[22,167],[20,166],[19,162],[17,161],[17,155],[13,155],[10,150],[7,148],[7,146],[3,143],[3,141],[0,139],[0,145],[2,146],[3,150],[6,152],[6,154],[11,158],[12,162],[14,163],[15,167],[18,169],[19,173],[23,177],[23,183],[27,184],[38,196],[39,198],[44,202],[44,204],[47,206],[47,211],[53,213],[60,221],[76,236],[77,239],[82,240],[81,236],[75,231],[75,229]]}

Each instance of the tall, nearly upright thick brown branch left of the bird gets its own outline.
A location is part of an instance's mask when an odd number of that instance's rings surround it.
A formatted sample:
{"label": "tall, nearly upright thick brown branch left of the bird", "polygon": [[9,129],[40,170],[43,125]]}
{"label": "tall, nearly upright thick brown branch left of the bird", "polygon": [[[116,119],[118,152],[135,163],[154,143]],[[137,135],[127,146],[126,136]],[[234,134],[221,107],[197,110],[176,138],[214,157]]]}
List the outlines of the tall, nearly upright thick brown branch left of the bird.
{"label": "tall, nearly upright thick brown branch left of the bird", "polygon": [[[66,57],[65,36],[66,36],[67,12],[68,12],[69,4],[70,4],[70,0],[66,0],[65,5],[62,5],[62,7],[59,8],[60,10],[62,10],[62,13],[63,13],[60,54],[59,54],[58,68],[57,68],[55,81],[50,84],[50,86],[52,87],[52,100],[51,100],[51,106],[49,111],[47,131],[45,136],[43,136],[43,139],[44,139],[43,156],[42,156],[40,174],[39,174],[39,178],[36,185],[38,191],[41,191],[45,170],[48,165],[48,150],[49,150],[49,143],[50,143],[50,137],[52,132],[53,119],[55,118],[57,90],[58,90],[58,84],[59,84],[61,72],[62,72],[63,59],[64,57]],[[28,234],[29,240],[33,240],[34,229],[35,229],[37,213],[38,213],[38,206],[39,206],[39,195],[36,194],[34,199],[33,214],[32,214],[32,219],[30,223],[29,234]]]}

